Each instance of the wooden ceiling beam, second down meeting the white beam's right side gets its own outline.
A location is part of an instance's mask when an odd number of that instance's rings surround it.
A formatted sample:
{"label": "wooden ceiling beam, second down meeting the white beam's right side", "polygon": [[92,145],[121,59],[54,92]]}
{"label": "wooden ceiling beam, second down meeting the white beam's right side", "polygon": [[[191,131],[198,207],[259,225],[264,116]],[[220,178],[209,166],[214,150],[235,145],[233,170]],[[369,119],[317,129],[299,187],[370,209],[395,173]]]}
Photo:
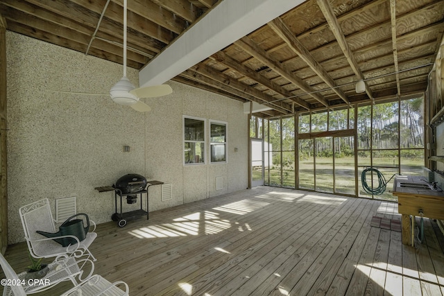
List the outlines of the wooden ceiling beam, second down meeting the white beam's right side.
{"label": "wooden ceiling beam, second down meeting the white beam's right side", "polygon": [[257,44],[255,44],[253,40],[250,40],[249,37],[243,37],[240,40],[234,42],[234,44],[239,46],[244,51],[248,52],[250,55],[253,55],[255,58],[257,58],[257,60],[265,64],[276,73],[279,73],[282,77],[289,80],[289,82],[293,83],[304,92],[310,93],[310,96],[315,98],[326,107],[328,106],[328,102],[327,100],[325,100],[325,98],[323,98],[323,96],[317,94],[315,90],[307,85],[304,80],[291,73],[291,71],[289,71],[282,63],[273,59],[271,55],[269,55],[264,49],[257,46]]}

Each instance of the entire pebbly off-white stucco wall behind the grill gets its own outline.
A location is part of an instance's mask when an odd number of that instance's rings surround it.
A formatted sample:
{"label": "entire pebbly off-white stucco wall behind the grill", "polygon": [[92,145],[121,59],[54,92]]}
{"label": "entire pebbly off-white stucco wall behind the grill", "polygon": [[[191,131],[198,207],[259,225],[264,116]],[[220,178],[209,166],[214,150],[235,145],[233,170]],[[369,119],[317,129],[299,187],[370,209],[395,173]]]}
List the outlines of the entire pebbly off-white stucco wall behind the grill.
{"label": "entire pebbly off-white stucco wall behind the grill", "polygon": [[[169,81],[173,94],[147,99],[151,112],[113,103],[108,94],[122,66],[7,32],[8,232],[23,241],[18,209],[29,202],[77,197],[78,212],[96,223],[110,220],[112,185],[126,173],[171,183],[173,199],[162,202],[160,186],[149,189],[150,211],[245,189],[247,117],[242,103]],[[128,78],[137,84],[137,70]],[[182,116],[228,122],[228,163],[182,164]],[[123,146],[130,146],[123,153]],[[207,149],[209,144],[207,145]],[[234,150],[237,148],[237,151]],[[223,177],[216,191],[215,177]]]}

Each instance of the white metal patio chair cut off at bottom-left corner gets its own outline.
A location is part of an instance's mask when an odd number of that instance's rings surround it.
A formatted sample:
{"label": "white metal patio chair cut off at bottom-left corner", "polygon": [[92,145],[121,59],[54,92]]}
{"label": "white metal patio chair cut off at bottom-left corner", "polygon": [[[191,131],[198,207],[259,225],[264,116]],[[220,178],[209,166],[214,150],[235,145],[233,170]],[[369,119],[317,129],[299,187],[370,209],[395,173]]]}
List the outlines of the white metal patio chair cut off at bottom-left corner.
{"label": "white metal patio chair cut off at bottom-left corner", "polygon": [[[83,262],[82,262],[83,261]],[[82,271],[79,268],[79,264],[85,265],[85,261],[89,261],[92,264],[92,268],[89,272],[89,275],[85,279],[81,279]],[[92,275],[94,271],[94,263],[89,259],[81,259],[80,261],[76,261],[74,257],[69,257],[68,259],[56,259],[53,263],[50,263],[50,271],[42,280],[44,284],[35,285],[31,283],[31,285],[24,280],[24,276],[26,272],[22,272],[20,275],[11,268],[8,261],[6,261],[5,257],[0,253],[0,265],[3,269],[3,273],[6,275],[6,282],[2,281],[4,286],[3,296],[25,296],[33,293],[39,293],[44,290],[48,290],[52,288],[55,284],[60,283],[60,281],[71,280],[73,281],[74,288],[71,288],[63,295],[91,295],[91,296],[128,296],[129,288],[128,285],[123,281],[116,281],[114,283],[110,283],[100,275]],[[78,276],[78,280],[81,281],[80,284],[77,284],[77,281],[74,279]],[[48,280],[48,281],[45,281]],[[19,284],[18,284],[19,283]],[[121,286],[124,290],[119,288]],[[50,295],[50,294],[48,294]]]}

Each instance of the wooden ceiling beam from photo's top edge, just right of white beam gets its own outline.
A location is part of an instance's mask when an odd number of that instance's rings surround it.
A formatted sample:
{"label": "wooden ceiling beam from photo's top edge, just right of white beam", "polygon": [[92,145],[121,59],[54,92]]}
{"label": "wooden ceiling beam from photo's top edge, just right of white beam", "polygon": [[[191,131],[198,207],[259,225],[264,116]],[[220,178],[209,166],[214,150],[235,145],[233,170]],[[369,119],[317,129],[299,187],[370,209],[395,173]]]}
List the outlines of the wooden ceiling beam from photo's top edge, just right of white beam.
{"label": "wooden ceiling beam from photo's top edge, just right of white beam", "polygon": [[[327,20],[327,23],[330,27],[330,30],[332,31],[334,37],[336,38],[336,41],[338,42],[339,46],[341,47],[341,50],[343,54],[345,55],[345,58],[348,60],[348,64],[350,64],[350,67],[352,68],[353,72],[357,76],[359,80],[364,80],[364,75],[361,72],[361,69],[359,69],[359,64],[355,60],[355,56],[353,55],[352,51],[350,50],[350,47],[348,46],[347,40],[345,40],[345,35],[342,31],[341,26],[339,25],[338,19],[336,19],[333,9],[330,6],[330,3],[328,3],[327,0],[316,0],[318,3],[319,8],[321,8],[321,11]],[[368,84],[366,81],[364,81],[366,84],[366,94],[368,97],[374,101],[373,94],[371,92],[370,87],[368,87]]]}

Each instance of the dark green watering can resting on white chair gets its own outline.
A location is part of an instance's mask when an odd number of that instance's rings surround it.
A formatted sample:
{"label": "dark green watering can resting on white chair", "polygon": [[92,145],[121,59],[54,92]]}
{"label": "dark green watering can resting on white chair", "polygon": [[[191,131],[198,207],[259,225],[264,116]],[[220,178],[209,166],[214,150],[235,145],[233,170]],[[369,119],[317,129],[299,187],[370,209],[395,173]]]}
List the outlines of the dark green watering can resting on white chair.
{"label": "dark green watering can resting on white chair", "polygon": [[[77,216],[85,216],[87,226],[83,227],[83,219],[73,219]],[[73,219],[73,220],[71,220]],[[40,230],[37,230],[37,234],[42,234],[43,236],[46,236],[48,238],[58,237],[58,236],[77,236],[78,241],[83,241],[86,238],[86,235],[89,230],[89,217],[87,214],[76,214],[74,216],[71,216],[67,218],[67,220],[60,225],[58,232],[55,234],[51,232],[42,232]],[[54,241],[57,243],[60,243],[63,247],[67,247],[69,245],[74,245],[77,243],[77,241],[74,238],[65,237],[65,238],[54,238]]]}

